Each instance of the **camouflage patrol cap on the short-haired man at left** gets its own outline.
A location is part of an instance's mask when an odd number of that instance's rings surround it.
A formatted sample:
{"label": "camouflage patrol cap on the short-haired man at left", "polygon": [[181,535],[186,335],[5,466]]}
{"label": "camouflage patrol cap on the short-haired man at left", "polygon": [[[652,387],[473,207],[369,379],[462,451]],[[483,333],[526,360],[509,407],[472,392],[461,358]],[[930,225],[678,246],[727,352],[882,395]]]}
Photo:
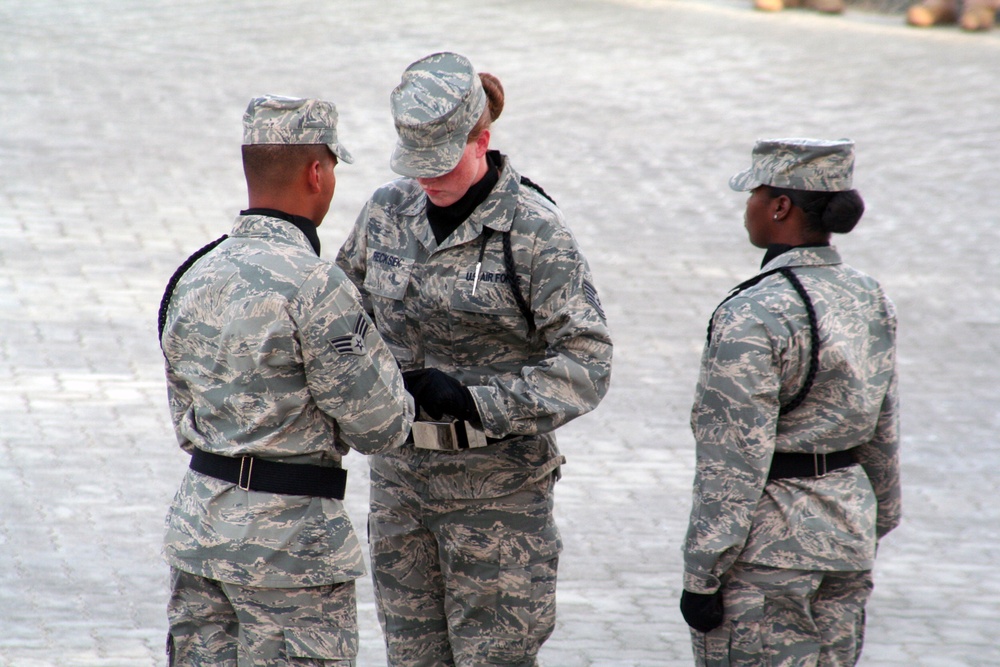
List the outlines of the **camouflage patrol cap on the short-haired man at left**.
{"label": "camouflage patrol cap on the short-haired man at left", "polygon": [[243,114],[243,145],[326,144],[337,159],[354,158],[337,141],[337,107],[324,100],[263,95]]}

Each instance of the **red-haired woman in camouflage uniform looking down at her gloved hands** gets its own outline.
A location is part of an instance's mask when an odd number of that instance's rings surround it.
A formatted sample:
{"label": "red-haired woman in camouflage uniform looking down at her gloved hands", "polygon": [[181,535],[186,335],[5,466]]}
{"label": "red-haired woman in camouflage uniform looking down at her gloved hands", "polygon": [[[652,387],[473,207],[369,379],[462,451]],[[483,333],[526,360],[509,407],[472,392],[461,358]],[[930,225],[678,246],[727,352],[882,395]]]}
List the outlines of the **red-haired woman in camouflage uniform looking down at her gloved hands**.
{"label": "red-haired woman in camouflage uniform looking down at her gloved hands", "polygon": [[499,112],[469,61],[413,63],[391,103],[406,178],[375,192],[337,262],[423,418],[445,425],[415,422],[371,458],[389,664],[535,665],[561,549],[552,432],[606,393],[610,336],[559,209],[488,150]]}

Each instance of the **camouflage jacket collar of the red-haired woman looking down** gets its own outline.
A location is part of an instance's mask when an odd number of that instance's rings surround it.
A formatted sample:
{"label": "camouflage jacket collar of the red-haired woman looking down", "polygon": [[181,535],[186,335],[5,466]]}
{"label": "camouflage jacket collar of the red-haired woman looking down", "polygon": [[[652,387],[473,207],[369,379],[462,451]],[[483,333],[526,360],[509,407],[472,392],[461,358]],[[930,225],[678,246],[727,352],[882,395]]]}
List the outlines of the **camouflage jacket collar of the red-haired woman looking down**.
{"label": "camouflage jacket collar of the red-haired woman looking down", "polygon": [[427,195],[416,185],[415,180],[414,187],[407,188],[409,195],[400,202],[396,212],[401,216],[422,219],[422,224],[415,224],[412,229],[416,230],[417,240],[428,251],[442,250],[474,241],[483,233],[483,227],[501,233],[510,231],[514,224],[514,214],[517,212],[518,192],[522,187],[521,176],[514,171],[507,156],[498,153],[498,157],[502,161],[502,167],[493,191],[440,246],[437,245],[434,232],[427,222]]}

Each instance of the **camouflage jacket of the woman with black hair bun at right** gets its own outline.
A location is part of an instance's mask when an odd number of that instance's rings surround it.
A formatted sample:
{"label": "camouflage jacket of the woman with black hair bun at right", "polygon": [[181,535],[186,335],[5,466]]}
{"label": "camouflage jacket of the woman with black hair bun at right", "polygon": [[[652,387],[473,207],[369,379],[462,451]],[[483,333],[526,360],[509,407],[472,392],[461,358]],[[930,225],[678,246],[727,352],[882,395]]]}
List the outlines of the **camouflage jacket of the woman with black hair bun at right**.
{"label": "camouflage jacket of the woman with black hair bun at right", "polygon": [[[721,305],[691,413],[697,462],[684,546],[684,588],[711,593],[737,560],[778,568],[870,569],[876,539],[900,520],[895,309],[880,285],[833,247],[796,248],[790,267],[815,306],[819,367],[805,304],[781,274]],[[767,481],[774,452],[857,447],[861,466]]]}

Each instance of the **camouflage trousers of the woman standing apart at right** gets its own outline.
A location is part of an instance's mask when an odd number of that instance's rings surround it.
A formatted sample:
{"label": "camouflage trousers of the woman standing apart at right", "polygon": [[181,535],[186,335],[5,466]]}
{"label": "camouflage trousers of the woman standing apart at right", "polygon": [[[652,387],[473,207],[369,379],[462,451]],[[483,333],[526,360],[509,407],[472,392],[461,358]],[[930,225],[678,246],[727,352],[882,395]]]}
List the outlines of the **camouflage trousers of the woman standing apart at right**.
{"label": "camouflage trousers of the woman standing apart at right", "polygon": [[722,578],[725,621],[691,631],[703,667],[850,667],[861,657],[872,573],[737,563]]}

